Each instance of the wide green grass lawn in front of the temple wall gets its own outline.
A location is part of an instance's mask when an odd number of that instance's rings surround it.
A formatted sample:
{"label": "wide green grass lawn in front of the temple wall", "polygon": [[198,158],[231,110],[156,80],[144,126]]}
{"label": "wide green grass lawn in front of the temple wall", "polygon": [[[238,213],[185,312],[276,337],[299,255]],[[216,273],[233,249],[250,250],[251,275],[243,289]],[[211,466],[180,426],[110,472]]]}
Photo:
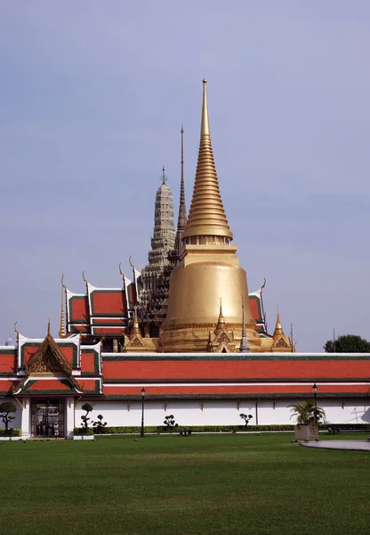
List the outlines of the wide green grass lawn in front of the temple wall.
{"label": "wide green grass lawn in front of the temple wall", "polygon": [[291,440],[277,433],[4,442],[0,533],[368,533],[369,454]]}

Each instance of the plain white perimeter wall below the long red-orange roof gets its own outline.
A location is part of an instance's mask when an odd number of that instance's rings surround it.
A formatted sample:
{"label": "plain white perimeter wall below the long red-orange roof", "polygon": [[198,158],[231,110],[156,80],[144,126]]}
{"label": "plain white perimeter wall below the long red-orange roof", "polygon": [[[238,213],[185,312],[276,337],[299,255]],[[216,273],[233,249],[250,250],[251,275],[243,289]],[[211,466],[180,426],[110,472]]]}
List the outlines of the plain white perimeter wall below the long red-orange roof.
{"label": "plain white perimeter wall below the long red-orange roof", "polygon": [[[80,427],[84,415],[80,401],[76,405],[75,425]],[[145,425],[162,425],[165,416],[173,415],[179,425],[239,425],[241,413],[252,415],[251,424],[294,424],[289,405],[302,399],[209,399],[156,401],[146,400]],[[141,425],[141,401],[89,401],[93,406],[91,421],[98,415],[109,426]],[[370,401],[367,399],[318,399],[318,406],[326,411],[326,422],[333,424],[370,423]]]}

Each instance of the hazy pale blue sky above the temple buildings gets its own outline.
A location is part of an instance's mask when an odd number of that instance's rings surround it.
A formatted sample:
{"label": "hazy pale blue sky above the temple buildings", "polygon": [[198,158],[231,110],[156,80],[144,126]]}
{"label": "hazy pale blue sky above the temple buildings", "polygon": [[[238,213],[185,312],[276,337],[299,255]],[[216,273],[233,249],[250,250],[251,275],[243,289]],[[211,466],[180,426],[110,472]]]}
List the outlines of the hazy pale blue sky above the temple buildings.
{"label": "hazy pale blue sky above the temple buildings", "polygon": [[189,208],[202,79],[250,291],[297,349],[370,339],[370,4],[173,0],[0,6],[0,337],[58,332],[84,292],[146,263],[165,163]]}

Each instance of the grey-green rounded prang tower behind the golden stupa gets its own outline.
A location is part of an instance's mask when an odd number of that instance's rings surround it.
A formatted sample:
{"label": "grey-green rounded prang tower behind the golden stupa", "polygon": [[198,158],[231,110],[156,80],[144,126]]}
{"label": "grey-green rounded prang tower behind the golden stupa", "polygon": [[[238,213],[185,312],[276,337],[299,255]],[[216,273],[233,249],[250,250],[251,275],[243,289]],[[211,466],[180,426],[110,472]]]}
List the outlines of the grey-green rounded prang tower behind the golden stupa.
{"label": "grey-green rounded prang tower behind the golden stupa", "polygon": [[165,166],[162,170],[161,181],[162,184],[158,187],[156,194],[154,231],[151,238],[151,250],[148,253],[148,265],[141,272],[143,282],[141,303],[145,302],[149,293],[156,289],[158,278],[168,263],[168,251],[174,248],[173,193],[166,184]]}

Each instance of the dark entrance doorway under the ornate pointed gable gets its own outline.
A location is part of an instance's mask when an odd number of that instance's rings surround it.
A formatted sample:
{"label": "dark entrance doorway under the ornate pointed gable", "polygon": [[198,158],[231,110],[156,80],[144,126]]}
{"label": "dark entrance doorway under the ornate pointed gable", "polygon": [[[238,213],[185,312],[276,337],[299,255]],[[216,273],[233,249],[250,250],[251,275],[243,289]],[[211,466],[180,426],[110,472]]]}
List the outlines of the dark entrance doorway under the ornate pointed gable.
{"label": "dark entrance doorway under the ornate pointed gable", "polygon": [[36,399],[32,420],[35,437],[64,437],[64,399]]}

